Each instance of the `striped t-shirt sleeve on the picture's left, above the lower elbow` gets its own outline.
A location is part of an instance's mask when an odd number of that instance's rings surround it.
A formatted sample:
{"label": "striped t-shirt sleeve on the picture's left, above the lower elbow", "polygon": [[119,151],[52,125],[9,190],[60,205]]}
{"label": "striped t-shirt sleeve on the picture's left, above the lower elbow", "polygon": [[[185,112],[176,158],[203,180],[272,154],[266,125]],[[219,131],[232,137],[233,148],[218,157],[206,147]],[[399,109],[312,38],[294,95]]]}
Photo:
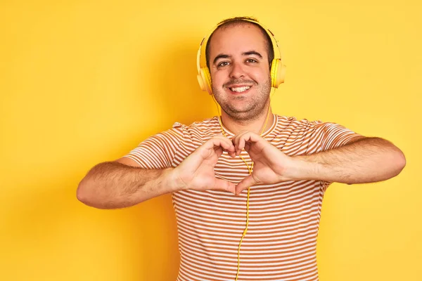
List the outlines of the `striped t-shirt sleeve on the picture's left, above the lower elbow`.
{"label": "striped t-shirt sleeve on the picture's left, above the lower elbow", "polygon": [[124,157],[134,160],[143,169],[170,168],[182,139],[183,130],[180,124],[176,123],[172,129],[142,141]]}

